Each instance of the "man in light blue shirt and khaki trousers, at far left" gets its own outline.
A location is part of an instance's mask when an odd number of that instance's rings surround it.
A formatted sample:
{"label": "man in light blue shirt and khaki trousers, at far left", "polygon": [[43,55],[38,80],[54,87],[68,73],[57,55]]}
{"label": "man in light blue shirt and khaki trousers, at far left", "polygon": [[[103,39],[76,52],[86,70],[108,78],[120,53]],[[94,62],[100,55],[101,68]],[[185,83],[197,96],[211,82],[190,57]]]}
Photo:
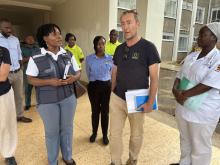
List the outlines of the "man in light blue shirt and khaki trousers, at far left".
{"label": "man in light blue shirt and khaki trousers, at far left", "polygon": [[17,121],[29,123],[32,119],[24,117],[23,102],[23,73],[21,70],[22,55],[20,43],[17,37],[12,35],[12,24],[6,19],[0,19],[0,46],[9,50],[11,67],[8,79],[14,90],[14,100],[17,112]]}

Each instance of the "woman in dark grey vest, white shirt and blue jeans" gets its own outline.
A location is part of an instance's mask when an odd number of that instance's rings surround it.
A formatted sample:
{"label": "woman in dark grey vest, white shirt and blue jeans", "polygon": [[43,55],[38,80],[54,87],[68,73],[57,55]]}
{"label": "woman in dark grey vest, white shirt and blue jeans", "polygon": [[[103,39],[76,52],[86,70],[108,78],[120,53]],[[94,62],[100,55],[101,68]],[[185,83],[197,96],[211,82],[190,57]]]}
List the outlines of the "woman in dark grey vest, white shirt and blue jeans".
{"label": "woman in dark grey vest, white shirt and blue jeans", "polygon": [[72,159],[73,118],[76,98],[73,82],[80,78],[75,58],[62,47],[60,28],[45,24],[38,28],[37,40],[42,47],[30,58],[26,74],[36,88],[37,111],[45,128],[48,162],[58,164],[59,148],[66,165]]}

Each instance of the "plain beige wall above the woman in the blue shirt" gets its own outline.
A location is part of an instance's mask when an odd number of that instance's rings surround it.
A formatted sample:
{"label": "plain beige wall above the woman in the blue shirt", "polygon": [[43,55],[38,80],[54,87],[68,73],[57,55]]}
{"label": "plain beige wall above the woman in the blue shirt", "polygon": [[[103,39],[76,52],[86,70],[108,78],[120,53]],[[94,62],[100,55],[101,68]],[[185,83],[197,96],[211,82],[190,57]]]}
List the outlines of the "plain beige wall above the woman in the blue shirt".
{"label": "plain beige wall above the woman in the blue shirt", "polygon": [[[109,0],[68,0],[53,7],[51,20],[60,26],[63,36],[67,32],[74,33],[84,54],[91,54],[94,52],[92,41],[96,35],[108,39]],[[81,79],[87,81],[84,69]]]}

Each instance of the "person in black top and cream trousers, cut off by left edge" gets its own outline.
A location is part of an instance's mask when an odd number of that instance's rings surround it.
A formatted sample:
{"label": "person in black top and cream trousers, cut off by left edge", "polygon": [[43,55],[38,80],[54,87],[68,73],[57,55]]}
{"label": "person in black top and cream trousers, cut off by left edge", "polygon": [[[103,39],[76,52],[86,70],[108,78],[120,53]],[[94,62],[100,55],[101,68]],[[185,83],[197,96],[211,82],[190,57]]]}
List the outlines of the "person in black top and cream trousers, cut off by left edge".
{"label": "person in black top and cream trousers, cut off by left edge", "polygon": [[17,121],[13,90],[8,80],[9,51],[0,46],[0,153],[7,165],[16,165],[13,157],[17,145]]}

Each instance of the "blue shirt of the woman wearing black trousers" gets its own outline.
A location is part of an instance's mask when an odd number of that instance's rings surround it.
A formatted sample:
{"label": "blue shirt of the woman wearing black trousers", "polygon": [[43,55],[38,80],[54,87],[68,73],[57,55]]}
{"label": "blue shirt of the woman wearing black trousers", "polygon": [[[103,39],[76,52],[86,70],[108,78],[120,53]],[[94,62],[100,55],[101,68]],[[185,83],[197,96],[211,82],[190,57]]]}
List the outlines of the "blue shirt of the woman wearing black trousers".
{"label": "blue shirt of the woman wearing black trousers", "polygon": [[86,57],[86,74],[89,81],[108,81],[111,80],[112,57],[105,54],[103,57],[97,57],[91,54]]}

